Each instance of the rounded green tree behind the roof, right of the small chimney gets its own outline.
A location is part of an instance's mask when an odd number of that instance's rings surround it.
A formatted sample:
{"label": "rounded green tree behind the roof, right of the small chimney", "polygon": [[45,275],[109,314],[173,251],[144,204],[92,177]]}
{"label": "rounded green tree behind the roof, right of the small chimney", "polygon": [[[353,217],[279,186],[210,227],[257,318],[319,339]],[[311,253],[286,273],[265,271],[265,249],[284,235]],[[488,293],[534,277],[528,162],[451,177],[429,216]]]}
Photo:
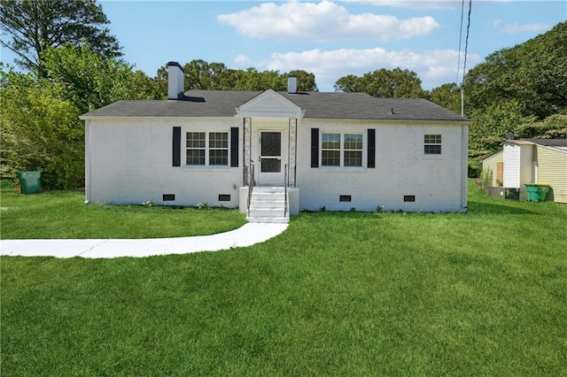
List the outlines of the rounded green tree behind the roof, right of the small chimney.
{"label": "rounded green tree behind the roof, right of the small chimney", "polygon": [[407,69],[378,69],[361,77],[348,75],[335,83],[336,91],[364,92],[370,96],[387,98],[425,98],[427,92],[415,72]]}

